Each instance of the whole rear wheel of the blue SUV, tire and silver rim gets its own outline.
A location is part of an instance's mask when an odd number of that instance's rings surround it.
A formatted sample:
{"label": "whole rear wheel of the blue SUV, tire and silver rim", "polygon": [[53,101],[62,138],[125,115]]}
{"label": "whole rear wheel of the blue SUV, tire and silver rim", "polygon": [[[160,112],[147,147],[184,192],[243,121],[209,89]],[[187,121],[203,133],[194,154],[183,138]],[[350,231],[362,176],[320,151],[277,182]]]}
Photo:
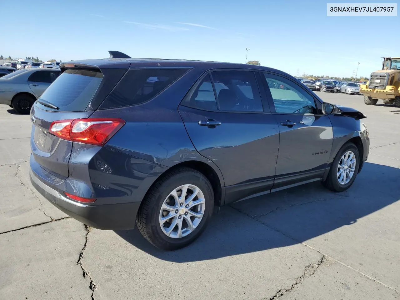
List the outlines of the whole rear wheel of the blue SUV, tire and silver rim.
{"label": "whole rear wheel of the blue SUV, tire and silver rim", "polygon": [[150,188],[136,223],[151,244],[176,250],[200,236],[213,210],[214,192],[208,179],[191,168],[178,168]]}

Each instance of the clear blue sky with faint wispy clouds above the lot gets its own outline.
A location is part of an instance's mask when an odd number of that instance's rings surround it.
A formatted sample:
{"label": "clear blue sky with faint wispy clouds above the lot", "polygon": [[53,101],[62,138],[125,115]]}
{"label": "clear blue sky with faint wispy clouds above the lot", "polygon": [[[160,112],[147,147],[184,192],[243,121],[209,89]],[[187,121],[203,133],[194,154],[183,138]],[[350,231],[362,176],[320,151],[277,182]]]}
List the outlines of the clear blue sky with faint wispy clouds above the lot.
{"label": "clear blue sky with faint wispy clouds above the lot", "polygon": [[[19,16],[19,8],[27,13]],[[358,75],[369,76],[380,57],[400,56],[398,32],[368,30],[377,28],[373,22],[399,29],[399,16],[327,17],[324,1],[19,0],[2,1],[1,13],[3,32],[10,33],[2,35],[9,40],[2,39],[0,54],[13,58],[66,61],[119,50],[242,63],[250,48],[248,60],[295,76],[297,69],[352,76],[358,62]]]}

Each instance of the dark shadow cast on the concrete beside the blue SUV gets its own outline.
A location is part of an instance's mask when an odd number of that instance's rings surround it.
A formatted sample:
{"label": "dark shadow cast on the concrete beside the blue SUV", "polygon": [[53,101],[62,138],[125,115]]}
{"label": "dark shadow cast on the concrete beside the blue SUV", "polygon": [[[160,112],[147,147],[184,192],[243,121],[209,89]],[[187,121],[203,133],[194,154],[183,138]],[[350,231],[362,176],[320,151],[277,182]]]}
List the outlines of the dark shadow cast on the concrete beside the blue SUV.
{"label": "dark shadow cast on the concrete beside the blue SUV", "polygon": [[330,192],[314,182],[223,207],[200,238],[180,250],[158,250],[137,229],[116,233],[161,260],[210,260],[298,244],[354,224],[399,199],[400,169],[366,162],[346,192]]}

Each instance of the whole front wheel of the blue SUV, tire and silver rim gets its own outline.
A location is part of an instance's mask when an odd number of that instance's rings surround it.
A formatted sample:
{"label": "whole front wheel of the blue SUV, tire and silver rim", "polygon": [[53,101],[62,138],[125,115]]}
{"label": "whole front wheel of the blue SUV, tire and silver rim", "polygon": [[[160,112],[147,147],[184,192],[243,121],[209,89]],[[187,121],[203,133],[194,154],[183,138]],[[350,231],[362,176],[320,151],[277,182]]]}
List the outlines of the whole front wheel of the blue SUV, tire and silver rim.
{"label": "whole front wheel of the blue SUV, tire and silver rim", "polygon": [[347,190],[356,179],[359,166],[358,148],[352,142],[347,142],[336,154],[324,186],[334,192]]}

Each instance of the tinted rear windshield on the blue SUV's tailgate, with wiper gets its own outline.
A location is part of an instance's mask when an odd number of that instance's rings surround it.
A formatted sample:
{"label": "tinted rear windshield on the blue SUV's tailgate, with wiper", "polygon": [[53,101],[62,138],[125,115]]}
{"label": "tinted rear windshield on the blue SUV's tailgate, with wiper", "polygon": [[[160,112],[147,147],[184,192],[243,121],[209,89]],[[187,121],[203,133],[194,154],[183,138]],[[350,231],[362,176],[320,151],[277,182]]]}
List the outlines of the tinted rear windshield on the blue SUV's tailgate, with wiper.
{"label": "tinted rear windshield on the blue SUV's tailgate, with wiper", "polygon": [[[103,74],[92,70],[69,69],[62,73],[40,97],[62,112],[84,111],[96,93]],[[52,110],[37,104],[46,110]]]}

